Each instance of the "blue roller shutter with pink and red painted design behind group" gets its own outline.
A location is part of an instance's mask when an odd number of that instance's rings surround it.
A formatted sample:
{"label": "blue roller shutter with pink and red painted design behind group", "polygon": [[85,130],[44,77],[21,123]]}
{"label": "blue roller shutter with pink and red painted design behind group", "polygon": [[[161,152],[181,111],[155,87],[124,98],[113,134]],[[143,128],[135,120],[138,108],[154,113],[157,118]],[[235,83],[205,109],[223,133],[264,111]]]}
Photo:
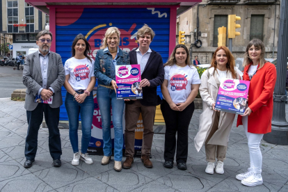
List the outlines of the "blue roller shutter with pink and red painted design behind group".
{"label": "blue roller shutter with pink and red painted design behind group", "polygon": [[[170,8],[56,8],[56,52],[62,56],[64,64],[72,56],[74,38],[82,33],[90,43],[92,58],[95,59],[96,50],[110,26],[120,29],[120,49],[130,51],[138,47],[136,32],[144,24],[150,26],[156,34],[151,49],[161,54],[163,63],[166,63],[169,53]],[[160,86],[157,93],[162,97]],[[62,95],[65,102],[64,87]],[[60,120],[67,120],[64,104],[61,106]]]}

